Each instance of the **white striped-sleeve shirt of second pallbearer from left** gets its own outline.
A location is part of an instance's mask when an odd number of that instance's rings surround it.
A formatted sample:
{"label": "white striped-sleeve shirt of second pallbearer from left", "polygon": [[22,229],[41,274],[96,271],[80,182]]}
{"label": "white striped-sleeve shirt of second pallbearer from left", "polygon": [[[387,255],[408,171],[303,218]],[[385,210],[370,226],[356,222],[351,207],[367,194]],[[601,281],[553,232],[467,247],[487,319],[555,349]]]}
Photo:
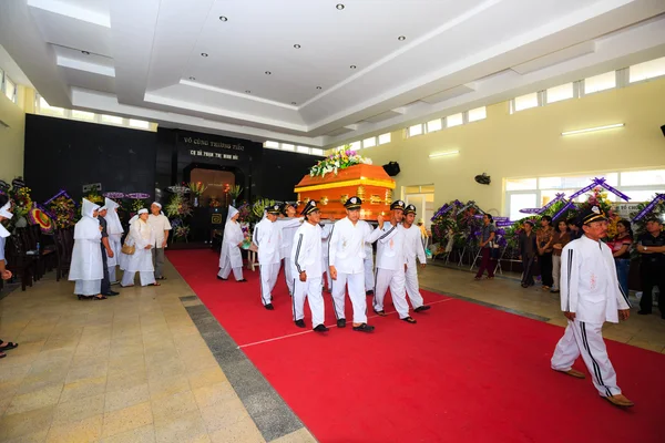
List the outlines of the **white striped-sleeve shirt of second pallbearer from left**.
{"label": "white striped-sleeve shirt of second pallbearer from left", "polygon": [[308,222],[296,230],[290,251],[294,278],[301,271],[307,272],[307,278],[317,278],[324,274],[321,236],[321,227]]}

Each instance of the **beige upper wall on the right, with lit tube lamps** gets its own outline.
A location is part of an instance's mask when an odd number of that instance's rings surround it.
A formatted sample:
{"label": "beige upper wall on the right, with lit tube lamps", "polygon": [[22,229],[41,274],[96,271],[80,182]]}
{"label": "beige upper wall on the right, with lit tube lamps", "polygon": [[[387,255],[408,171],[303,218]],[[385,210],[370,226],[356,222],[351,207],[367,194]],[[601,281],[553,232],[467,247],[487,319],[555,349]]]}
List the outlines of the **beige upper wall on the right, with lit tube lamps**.
{"label": "beige upper wall on the right, with lit tube lamps", "polygon": [[[561,136],[564,131],[625,123],[625,127]],[[488,106],[488,117],[362,151],[375,164],[396,161],[401,186],[434,185],[434,206],[474,199],[505,214],[504,178],[556,176],[616,169],[665,167],[665,79],[598,92],[542,107],[509,112],[509,103]],[[458,155],[429,154],[459,150]],[[488,173],[492,184],[473,177]]]}

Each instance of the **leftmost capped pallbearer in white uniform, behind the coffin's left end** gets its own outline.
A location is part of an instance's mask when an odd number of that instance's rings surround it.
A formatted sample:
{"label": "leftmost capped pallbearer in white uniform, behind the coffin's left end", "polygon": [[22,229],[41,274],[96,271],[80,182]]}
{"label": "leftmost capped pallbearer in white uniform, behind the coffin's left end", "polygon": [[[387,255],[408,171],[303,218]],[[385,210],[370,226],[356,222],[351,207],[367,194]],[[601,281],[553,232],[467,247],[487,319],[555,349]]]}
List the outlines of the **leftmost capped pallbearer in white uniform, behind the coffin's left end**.
{"label": "leftmost capped pallbearer in white uniform, behind the coffin's left end", "polygon": [[279,205],[269,206],[266,217],[256,224],[252,240],[258,246],[258,269],[260,274],[260,301],[272,311],[273,289],[279,275],[282,259],[282,229],[275,223],[279,215]]}

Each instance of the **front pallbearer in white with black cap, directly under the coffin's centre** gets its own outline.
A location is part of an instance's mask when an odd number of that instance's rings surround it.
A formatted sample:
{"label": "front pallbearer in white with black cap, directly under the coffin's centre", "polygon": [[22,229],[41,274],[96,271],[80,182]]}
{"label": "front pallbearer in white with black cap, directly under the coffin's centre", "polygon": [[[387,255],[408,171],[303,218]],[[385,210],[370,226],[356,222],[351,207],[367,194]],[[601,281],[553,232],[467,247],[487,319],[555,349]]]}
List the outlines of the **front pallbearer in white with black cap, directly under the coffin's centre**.
{"label": "front pallbearer in white with black cap, directly under the coffin's centre", "polygon": [[[329,276],[332,279],[332,305],[337,327],[346,327],[344,311],[346,287],[354,307],[354,330],[371,332],[374,326],[367,324],[367,297],[365,296],[365,241],[374,241],[378,234],[367,237],[367,222],[360,220],[362,200],[356,196],[345,204],[347,216],[335,223],[330,235]],[[372,239],[374,238],[374,239]]]}

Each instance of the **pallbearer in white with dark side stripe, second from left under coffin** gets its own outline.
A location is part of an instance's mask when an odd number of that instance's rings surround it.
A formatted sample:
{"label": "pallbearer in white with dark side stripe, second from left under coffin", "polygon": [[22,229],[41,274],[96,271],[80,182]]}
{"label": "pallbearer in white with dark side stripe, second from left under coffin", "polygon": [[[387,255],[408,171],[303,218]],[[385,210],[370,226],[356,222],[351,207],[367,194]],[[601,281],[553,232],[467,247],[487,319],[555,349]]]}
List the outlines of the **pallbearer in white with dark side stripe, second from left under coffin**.
{"label": "pallbearer in white with dark side stripe, second from left under coffin", "polygon": [[303,209],[305,223],[296,230],[290,251],[291,274],[294,281],[293,310],[294,321],[298,328],[305,328],[305,297],[311,311],[311,326],[317,332],[326,332],[324,324],[325,309],[321,295],[321,275],[324,270],[321,254],[323,229],[319,226],[321,213],[315,200],[307,202]]}

